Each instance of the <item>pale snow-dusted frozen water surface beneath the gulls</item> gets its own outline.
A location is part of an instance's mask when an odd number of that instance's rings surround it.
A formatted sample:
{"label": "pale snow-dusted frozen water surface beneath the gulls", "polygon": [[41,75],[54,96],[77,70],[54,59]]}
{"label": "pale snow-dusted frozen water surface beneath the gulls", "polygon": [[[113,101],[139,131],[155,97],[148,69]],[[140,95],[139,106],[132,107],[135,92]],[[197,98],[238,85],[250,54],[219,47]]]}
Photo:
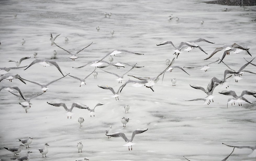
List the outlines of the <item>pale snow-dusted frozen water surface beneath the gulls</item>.
{"label": "pale snow-dusted frozen water surface beneath the gulls", "polygon": [[[138,77],[154,77],[163,71],[167,65],[166,59],[175,57],[171,45],[156,46],[162,41],[172,41],[179,45],[182,41],[205,38],[215,42],[205,42],[199,45],[208,53],[224,44],[234,42],[250,48],[255,55],[255,9],[237,6],[222,6],[202,3],[203,0],[179,1],[14,1],[0,2],[0,67],[14,67],[13,62],[21,57],[31,56],[24,60],[21,66],[29,65],[37,52],[38,59],[50,59],[53,50],[57,51],[58,62],[63,73],[77,77],[86,77],[94,67],[79,67],[88,61],[101,59],[114,49],[126,49],[144,55],[119,54],[113,56],[114,62],[122,61],[130,64],[138,63],[144,66],[133,69],[128,74]],[[228,8],[227,12],[223,9]],[[110,18],[104,18],[104,12],[112,13]],[[17,17],[14,18],[14,14]],[[174,19],[168,22],[168,16]],[[179,23],[175,18],[179,17]],[[201,25],[201,20],[204,24]],[[100,30],[97,32],[96,27]],[[113,37],[110,31],[114,30]],[[92,45],[81,51],[78,59],[72,61],[64,50],[51,46],[50,33],[56,38],[55,43],[72,53],[83,47]],[[68,43],[64,38],[68,37]],[[21,39],[26,43],[21,45]],[[182,51],[174,65],[196,66],[217,60],[223,51],[212,58],[203,61],[208,55],[195,48],[189,53]],[[246,61],[252,59],[245,51],[240,54],[227,55],[224,62],[234,70],[238,70]],[[108,61],[108,57],[105,58]],[[255,61],[254,61],[255,63]],[[108,67],[104,70],[123,74],[130,67]],[[231,153],[232,148],[222,145],[255,145],[256,98],[245,96],[254,102],[242,103],[242,106],[229,105],[227,99],[231,96],[218,92],[226,90],[216,87],[214,102],[202,105],[202,101],[187,102],[206,95],[191,88],[190,84],[198,84],[206,88],[213,76],[222,78],[227,67],[212,64],[207,72],[200,68],[185,69],[189,74],[179,69],[166,72],[154,85],[154,92],[149,88],[132,87],[128,84],[121,92],[119,100],[111,97],[110,90],[98,88],[97,85],[109,85],[118,90],[121,84],[115,76],[96,69],[98,77],[92,75],[86,79],[86,85],[79,87],[80,82],[69,76],[49,85],[46,93],[31,100],[28,113],[18,105],[19,99],[11,93],[0,92],[0,159],[13,158],[13,154],[3,147],[18,146],[18,139],[33,137],[29,151],[30,160],[72,161],[87,157],[90,160],[222,160]],[[256,72],[255,66],[248,65],[246,70]],[[27,70],[23,68],[10,70],[10,74],[19,74],[27,80],[38,83],[48,83],[62,77],[54,66],[43,67],[35,64]],[[238,83],[229,78],[228,90],[235,90],[238,95],[245,90],[256,90],[255,75],[245,73]],[[125,76],[127,79],[135,78]],[[176,78],[176,86],[172,86],[171,78]],[[124,83],[123,81],[122,83]],[[0,85],[18,86],[26,97],[42,93],[38,85],[27,82],[23,84],[18,79],[12,82],[2,80]],[[79,102],[89,107],[96,107],[95,117],[90,117],[89,111],[74,108],[72,119],[67,119],[63,107],[48,105],[49,101],[61,101],[71,107],[73,102]],[[129,104],[129,113],[125,113],[124,105]],[[85,122],[80,127],[78,118],[84,117]],[[121,118],[131,120],[123,127]],[[120,131],[130,139],[132,131],[138,128],[148,128],[142,134],[136,135],[132,151],[128,151],[122,138],[108,139],[104,131],[112,125],[113,132]],[[76,145],[82,141],[84,148],[78,153]],[[49,144],[46,158],[37,149]],[[25,149],[19,156],[25,155]],[[255,160],[249,158],[250,149],[235,149],[227,160]]]}

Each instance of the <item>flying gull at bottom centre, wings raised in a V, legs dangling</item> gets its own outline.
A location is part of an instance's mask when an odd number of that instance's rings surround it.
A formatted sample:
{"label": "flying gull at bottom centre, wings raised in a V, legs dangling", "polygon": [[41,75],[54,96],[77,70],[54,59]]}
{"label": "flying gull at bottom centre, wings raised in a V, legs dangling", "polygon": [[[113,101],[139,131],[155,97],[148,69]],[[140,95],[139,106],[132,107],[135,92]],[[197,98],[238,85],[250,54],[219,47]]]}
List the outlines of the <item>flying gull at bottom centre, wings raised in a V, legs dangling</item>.
{"label": "flying gull at bottom centre, wings raised in a V, legs dangling", "polygon": [[143,133],[143,132],[145,132],[145,131],[147,131],[147,130],[148,130],[148,129],[146,129],[146,128],[134,130],[133,133],[132,133],[131,139],[128,139],[128,138],[126,137],[126,135],[125,135],[124,133],[121,133],[121,132],[115,132],[115,133],[110,133],[110,134],[106,134],[106,135],[107,135],[107,136],[112,136],[112,137],[122,137],[122,138],[124,139],[124,141],[127,142],[127,144],[125,144],[125,145],[123,145],[123,146],[128,146],[129,150],[130,150],[130,147],[129,147],[129,146],[131,146],[131,150],[132,150],[132,145],[135,144],[135,143],[132,142],[134,136],[135,136],[136,134],[141,134],[141,133]]}

